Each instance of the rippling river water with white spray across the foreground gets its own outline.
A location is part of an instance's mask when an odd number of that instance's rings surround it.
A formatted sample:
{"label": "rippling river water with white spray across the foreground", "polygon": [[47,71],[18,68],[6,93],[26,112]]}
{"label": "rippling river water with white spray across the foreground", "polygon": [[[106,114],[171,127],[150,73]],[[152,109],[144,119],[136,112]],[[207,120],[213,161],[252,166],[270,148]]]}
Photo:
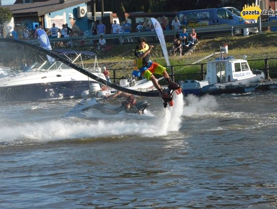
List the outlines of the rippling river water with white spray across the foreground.
{"label": "rippling river water with white spray across the foreground", "polygon": [[0,208],[276,207],[276,93],[189,96],[169,121],[160,98],[144,120],[2,104]]}

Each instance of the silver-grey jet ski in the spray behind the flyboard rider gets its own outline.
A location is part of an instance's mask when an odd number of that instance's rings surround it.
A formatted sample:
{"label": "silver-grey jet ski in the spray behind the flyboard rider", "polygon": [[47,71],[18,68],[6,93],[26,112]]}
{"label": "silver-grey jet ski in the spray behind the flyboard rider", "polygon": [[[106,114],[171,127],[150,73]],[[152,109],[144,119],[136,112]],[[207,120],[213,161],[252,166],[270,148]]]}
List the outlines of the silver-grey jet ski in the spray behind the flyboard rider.
{"label": "silver-grey jet ski in the spray behind the flyboard rider", "polygon": [[124,105],[114,106],[107,104],[105,99],[86,98],[67,112],[64,117],[76,117],[85,119],[117,119],[137,118],[144,119],[154,117],[146,108],[149,103],[146,100],[137,102],[134,106],[127,109]]}

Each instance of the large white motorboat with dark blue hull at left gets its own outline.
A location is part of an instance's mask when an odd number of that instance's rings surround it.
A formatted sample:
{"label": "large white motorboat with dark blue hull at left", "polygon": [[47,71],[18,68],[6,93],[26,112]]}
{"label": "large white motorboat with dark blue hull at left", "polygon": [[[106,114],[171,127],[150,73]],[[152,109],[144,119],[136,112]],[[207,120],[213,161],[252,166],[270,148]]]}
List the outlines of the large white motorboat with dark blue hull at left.
{"label": "large white motorboat with dark blue hull at left", "polygon": [[[98,67],[91,73],[106,80]],[[93,83],[97,82],[60,61],[36,62],[18,75],[0,79],[0,100],[80,98],[82,92]]]}

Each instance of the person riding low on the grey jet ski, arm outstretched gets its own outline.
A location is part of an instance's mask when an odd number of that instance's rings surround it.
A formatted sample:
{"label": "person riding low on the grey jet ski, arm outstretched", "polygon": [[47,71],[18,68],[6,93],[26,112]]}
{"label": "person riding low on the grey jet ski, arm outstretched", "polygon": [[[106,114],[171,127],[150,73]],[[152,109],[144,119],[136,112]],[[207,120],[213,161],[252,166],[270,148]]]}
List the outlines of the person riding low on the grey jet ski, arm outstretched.
{"label": "person riding low on the grey jet ski, arm outstretched", "polygon": [[122,92],[122,91],[117,91],[116,93],[110,95],[110,96],[107,96],[106,98],[103,98],[104,100],[110,100],[110,99],[114,99],[116,97],[121,97],[121,98],[124,98],[125,100],[121,103],[121,107],[123,109],[125,109],[125,111],[127,112],[138,112],[138,114],[142,114],[142,111],[141,110],[138,110],[136,107],[135,107],[135,104],[136,104],[136,99],[135,97],[130,94],[130,93],[125,93],[125,92]]}

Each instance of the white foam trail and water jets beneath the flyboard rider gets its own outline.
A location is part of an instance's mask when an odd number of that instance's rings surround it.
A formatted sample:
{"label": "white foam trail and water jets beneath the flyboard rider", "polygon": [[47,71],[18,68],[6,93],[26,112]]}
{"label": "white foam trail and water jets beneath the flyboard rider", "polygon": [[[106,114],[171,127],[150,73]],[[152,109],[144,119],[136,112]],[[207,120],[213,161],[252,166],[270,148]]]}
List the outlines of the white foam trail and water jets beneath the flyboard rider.
{"label": "white foam trail and water jets beneath the flyboard rider", "polygon": [[[53,119],[30,122],[1,117],[0,143],[17,144],[48,142],[65,139],[87,139],[136,135],[156,137],[168,135],[181,127],[184,100],[180,94],[173,108],[161,106],[160,116],[146,120],[118,118],[114,120]],[[27,119],[28,120],[28,119]]]}

